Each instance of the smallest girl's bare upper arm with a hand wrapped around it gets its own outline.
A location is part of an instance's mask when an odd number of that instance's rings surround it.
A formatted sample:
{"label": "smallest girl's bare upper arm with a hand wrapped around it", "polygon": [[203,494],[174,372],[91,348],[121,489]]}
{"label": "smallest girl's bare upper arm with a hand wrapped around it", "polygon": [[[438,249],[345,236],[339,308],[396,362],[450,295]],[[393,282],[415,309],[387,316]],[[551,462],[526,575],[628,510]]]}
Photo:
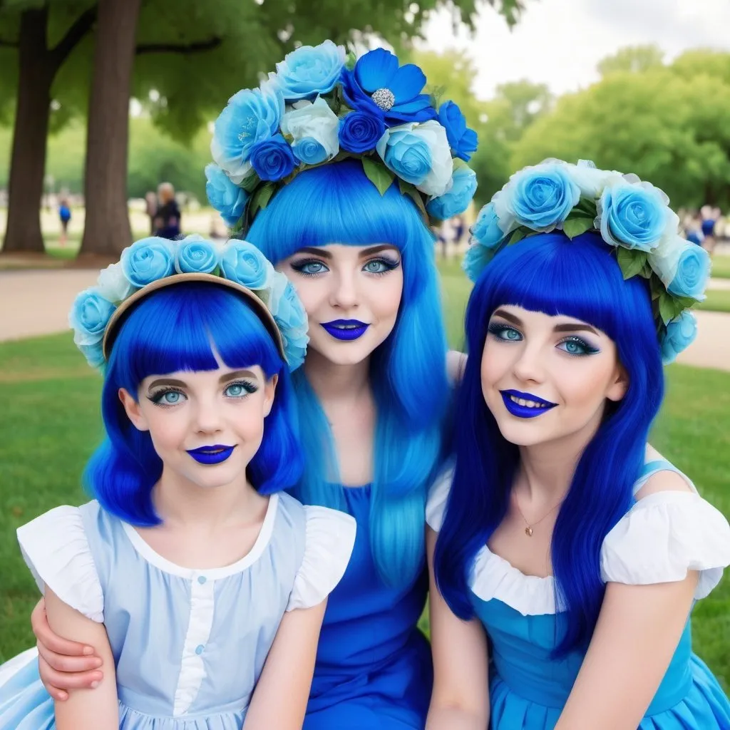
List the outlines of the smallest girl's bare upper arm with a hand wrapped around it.
{"label": "smallest girl's bare upper arm with a hand wrapped around it", "polygon": [[103,623],[96,623],[72,609],[47,589],[46,610],[53,631],[97,647],[104,666],[104,680],[96,691],[74,690],[66,702],[55,705],[58,730],[118,730],[119,709],[114,657]]}

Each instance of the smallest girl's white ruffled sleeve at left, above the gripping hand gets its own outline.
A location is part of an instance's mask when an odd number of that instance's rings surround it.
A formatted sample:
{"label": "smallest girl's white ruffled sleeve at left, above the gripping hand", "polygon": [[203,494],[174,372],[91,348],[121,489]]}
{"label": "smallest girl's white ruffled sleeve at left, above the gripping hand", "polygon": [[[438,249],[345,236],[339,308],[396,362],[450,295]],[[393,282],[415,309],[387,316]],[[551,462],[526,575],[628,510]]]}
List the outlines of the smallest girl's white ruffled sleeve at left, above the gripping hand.
{"label": "smallest girl's white ruffled sleeve at left, above the gripping hand", "polygon": [[104,621],[104,593],[78,507],[55,507],[18,528],[23,559],[41,593],[46,586],[66,605]]}

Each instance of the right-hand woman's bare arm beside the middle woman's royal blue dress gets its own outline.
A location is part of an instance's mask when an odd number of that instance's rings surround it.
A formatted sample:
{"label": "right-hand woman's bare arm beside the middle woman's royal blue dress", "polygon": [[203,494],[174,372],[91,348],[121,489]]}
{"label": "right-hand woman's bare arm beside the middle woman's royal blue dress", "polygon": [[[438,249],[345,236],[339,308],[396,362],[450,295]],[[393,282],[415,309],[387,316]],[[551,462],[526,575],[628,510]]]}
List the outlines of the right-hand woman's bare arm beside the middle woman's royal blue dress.
{"label": "right-hand woman's bare arm beside the middle woman's royal blue dress", "polygon": [[488,649],[480,621],[461,621],[434,579],[436,533],[426,530],[434,691],[426,730],[485,730],[489,724]]}

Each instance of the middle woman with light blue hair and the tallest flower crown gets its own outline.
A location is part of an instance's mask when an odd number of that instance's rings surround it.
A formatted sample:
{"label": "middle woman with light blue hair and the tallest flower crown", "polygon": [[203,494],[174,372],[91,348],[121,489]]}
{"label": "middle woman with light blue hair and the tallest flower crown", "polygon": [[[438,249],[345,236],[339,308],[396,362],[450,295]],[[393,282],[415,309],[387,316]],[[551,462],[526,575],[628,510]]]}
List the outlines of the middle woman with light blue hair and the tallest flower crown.
{"label": "middle woman with light blue hair and the tallest flower crown", "polygon": [[[291,278],[307,310],[310,346],[294,377],[306,458],[294,493],[358,524],[328,602],[304,728],[421,730],[432,682],[417,628],[428,588],[423,513],[450,398],[426,206],[443,218],[464,210],[474,173],[453,158],[468,159],[476,136],[455,104],[435,110],[420,69],[391,53],[345,66],[345,50],[325,42],[292,55],[276,88],[231,99],[213,145],[225,172],[207,174],[211,202],[231,226],[250,224],[246,239]],[[261,125],[242,136],[251,118]],[[256,183],[257,168],[270,179]],[[241,174],[253,188],[231,183]],[[81,646],[49,634],[42,612],[34,618],[55,669],[93,666]],[[56,687],[98,677],[42,669]]]}

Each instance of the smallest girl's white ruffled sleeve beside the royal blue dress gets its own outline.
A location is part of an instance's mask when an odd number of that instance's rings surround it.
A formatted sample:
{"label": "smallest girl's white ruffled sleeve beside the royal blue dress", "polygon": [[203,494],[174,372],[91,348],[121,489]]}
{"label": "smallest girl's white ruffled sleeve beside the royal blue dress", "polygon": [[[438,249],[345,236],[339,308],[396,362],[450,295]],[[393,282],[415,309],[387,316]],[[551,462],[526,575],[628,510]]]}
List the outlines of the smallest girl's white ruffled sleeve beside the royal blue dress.
{"label": "smallest girl's white ruffled sleeve beside the royal blue dress", "polygon": [[355,546],[355,518],[328,507],[304,507],[304,558],[294,578],[286,610],[323,602],[345,575]]}

